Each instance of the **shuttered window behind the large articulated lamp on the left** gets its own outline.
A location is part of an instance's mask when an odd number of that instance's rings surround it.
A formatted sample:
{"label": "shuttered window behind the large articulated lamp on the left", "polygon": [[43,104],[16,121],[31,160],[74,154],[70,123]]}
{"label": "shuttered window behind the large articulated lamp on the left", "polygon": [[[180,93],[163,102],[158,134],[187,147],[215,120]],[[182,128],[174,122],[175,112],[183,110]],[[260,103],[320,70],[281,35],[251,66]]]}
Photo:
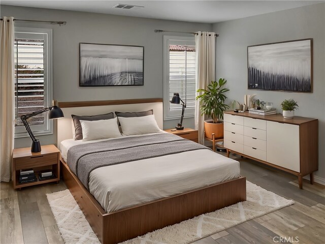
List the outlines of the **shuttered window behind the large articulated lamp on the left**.
{"label": "shuttered window behind the large articulated lamp on the left", "polygon": [[[48,107],[52,101],[52,29],[15,28],[15,138],[28,134],[23,114]],[[28,119],[35,135],[53,133],[47,113]]]}

